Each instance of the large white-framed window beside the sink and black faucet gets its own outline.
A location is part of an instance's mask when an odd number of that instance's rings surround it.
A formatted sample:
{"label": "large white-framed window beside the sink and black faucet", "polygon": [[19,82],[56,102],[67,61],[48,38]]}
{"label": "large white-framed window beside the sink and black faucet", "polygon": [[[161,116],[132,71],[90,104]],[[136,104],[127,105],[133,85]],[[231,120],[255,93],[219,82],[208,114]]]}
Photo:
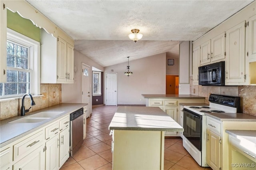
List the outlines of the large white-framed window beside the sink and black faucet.
{"label": "large white-framed window beside the sink and black faucet", "polygon": [[0,98],[40,93],[39,45],[39,42],[8,29],[7,82],[0,83]]}

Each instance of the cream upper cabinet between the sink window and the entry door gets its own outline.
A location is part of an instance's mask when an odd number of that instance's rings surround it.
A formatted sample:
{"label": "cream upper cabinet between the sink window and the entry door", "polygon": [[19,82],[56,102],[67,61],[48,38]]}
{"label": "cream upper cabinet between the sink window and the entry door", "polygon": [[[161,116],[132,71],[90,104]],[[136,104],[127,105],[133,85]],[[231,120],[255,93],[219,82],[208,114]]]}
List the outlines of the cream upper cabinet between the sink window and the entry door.
{"label": "cream upper cabinet between the sink window and the entry door", "polygon": [[74,83],[74,46],[41,29],[41,83]]}

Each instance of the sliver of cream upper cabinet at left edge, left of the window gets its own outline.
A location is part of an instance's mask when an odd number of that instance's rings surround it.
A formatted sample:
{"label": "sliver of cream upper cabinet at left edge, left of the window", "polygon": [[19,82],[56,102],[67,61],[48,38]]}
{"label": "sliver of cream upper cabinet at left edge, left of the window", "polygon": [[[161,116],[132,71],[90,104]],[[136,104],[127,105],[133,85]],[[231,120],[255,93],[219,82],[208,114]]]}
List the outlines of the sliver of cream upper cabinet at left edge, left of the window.
{"label": "sliver of cream upper cabinet at left edge, left of the window", "polygon": [[6,83],[6,42],[7,42],[7,8],[6,0],[0,3],[0,83]]}

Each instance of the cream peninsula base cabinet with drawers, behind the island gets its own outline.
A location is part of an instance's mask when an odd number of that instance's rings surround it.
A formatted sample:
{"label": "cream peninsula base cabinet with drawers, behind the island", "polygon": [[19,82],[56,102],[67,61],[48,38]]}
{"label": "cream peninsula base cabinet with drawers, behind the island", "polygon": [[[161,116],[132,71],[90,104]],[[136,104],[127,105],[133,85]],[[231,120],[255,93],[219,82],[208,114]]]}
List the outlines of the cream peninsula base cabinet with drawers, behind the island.
{"label": "cream peninsula base cabinet with drawers, behind the island", "polygon": [[[179,125],[183,123],[180,118],[179,103],[204,103],[204,98],[186,99],[186,98],[149,98],[146,100],[146,106],[160,107],[167,115],[169,115]],[[180,132],[165,132],[165,136],[180,136]]]}

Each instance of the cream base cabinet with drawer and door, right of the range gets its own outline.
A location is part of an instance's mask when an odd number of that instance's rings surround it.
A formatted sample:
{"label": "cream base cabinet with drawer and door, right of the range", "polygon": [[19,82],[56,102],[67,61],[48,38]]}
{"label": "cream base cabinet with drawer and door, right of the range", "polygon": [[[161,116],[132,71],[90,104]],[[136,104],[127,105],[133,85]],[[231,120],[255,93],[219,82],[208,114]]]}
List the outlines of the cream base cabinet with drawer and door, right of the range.
{"label": "cream base cabinet with drawer and door, right of the range", "polygon": [[219,121],[207,116],[206,162],[213,170],[229,170],[229,141],[225,130],[255,130],[256,123],[248,121]]}

